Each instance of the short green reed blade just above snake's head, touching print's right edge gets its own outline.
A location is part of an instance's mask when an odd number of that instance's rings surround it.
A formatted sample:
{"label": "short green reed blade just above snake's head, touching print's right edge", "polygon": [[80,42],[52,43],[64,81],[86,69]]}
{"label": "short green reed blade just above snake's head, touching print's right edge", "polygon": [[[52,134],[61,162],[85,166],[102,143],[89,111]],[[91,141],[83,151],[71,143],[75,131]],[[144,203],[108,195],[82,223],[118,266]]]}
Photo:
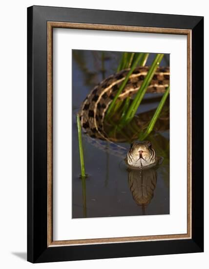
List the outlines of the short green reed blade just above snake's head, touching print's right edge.
{"label": "short green reed blade just above snake's head, touching print's right edge", "polygon": [[150,120],[149,125],[148,125],[146,131],[144,133],[141,133],[139,135],[139,140],[144,140],[146,138],[146,136],[148,134],[150,134],[151,131],[153,130],[154,125],[155,125],[155,123],[156,123],[156,121],[157,121],[157,119],[158,119],[158,117],[160,115],[160,112],[162,111],[163,106],[164,106],[164,104],[166,102],[166,99],[167,99],[167,96],[168,96],[169,91],[170,91],[170,86],[167,87],[167,90],[164,93],[164,95],[163,95],[163,97],[162,97],[162,99],[161,99],[161,101],[160,101],[160,103],[159,103],[159,105],[158,105],[158,107],[157,107],[157,109],[156,109],[156,111],[155,111],[152,119]]}

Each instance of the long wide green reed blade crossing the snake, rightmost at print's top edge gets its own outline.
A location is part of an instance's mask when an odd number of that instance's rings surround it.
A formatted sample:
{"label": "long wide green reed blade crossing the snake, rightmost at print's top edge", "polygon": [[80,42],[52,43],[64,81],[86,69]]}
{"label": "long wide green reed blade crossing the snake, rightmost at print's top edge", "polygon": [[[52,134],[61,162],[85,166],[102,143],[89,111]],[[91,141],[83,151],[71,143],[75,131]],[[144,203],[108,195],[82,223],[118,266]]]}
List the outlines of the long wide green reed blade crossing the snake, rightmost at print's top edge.
{"label": "long wide green reed blade crossing the snake, rightmost at print's top edge", "polygon": [[[150,66],[149,68],[149,71],[147,72],[146,74],[146,77],[140,87],[140,89],[138,90],[133,102],[131,103],[128,111],[126,112],[126,116],[125,116],[125,119],[124,121],[122,122],[123,125],[127,124],[128,122],[130,122],[132,120],[132,118],[134,117],[145,93],[146,93],[146,89],[147,87],[149,86],[153,76],[154,76],[154,73],[157,69],[157,67],[159,66],[160,62],[162,61],[163,59],[163,56],[164,54],[157,54],[152,65]],[[141,59],[140,59],[141,60]]]}

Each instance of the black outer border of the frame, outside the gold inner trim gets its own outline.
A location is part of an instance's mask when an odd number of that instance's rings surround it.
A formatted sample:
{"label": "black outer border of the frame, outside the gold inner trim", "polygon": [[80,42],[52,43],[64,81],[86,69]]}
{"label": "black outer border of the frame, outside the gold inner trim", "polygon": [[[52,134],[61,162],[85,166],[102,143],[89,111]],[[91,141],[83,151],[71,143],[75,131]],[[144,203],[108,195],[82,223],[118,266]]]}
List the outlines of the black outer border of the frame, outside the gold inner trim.
{"label": "black outer border of the frame, outside the gold inner trim", "polygon": [[[47,22],[191,30],[192,238],[47,247]],[[27,9],[27,260],[32,263],[203,252],[204,18],[61,7]],[[201,143],[201,147],[199,147]],[[195,158],[198,156],[198,158]]]}

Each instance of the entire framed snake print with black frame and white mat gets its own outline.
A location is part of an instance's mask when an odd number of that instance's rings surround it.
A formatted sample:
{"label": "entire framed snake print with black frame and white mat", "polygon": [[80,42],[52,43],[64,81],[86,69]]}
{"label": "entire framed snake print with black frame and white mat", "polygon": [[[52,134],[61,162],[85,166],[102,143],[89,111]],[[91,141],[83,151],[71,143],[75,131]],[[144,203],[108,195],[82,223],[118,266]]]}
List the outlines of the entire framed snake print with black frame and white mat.
{"label": "entire framed snake print with black frame and white mat", "polygon": [[203,17],[27,23],[28,261],[202,252]]}

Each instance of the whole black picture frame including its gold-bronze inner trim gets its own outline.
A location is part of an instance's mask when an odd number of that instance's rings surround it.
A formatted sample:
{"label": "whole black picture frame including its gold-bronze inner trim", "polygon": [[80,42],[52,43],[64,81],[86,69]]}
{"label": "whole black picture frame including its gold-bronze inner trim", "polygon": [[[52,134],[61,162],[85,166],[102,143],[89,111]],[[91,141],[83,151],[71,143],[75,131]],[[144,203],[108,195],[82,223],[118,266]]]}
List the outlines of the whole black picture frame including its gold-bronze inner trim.
{"label": "whole black picture frame including its gold-bronze inner trim", "polygon": [[[187,36],[187,233],[53,241],[53,29]],[[72,261],[204,251],[204,18],[32,6],[27,9],[27,260]],[[200,146],[201,143],[201,146]],[[198,157],[197,157],[198,156]]]}

